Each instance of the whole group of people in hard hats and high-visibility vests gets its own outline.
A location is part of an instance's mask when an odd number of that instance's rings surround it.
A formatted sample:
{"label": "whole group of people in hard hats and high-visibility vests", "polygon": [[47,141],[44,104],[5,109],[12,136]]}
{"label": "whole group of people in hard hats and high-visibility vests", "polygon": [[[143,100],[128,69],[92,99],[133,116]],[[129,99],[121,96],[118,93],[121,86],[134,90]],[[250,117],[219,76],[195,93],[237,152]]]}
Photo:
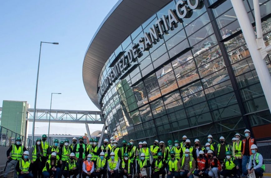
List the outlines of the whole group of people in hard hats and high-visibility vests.
{"label": "whole group of people in hard hats and high-visibility vests", "polygon": [[[10,160],[6,167],[4,177],[7,177],[12,166],[15,166],[14,178],[54,177],[62,175],[75,178],[101,178],[101,177],[153,177],[160,175],[168,178],[198,177],[218,178],[240,177],[241,174],[253,173],[256,177],[263,176],[265,165],[263,156],[258,153],[256,141],[250,137],[250,131],[245,130],[245,138],[241,141],[240,134],[236,133],[232,139],[233,145],[228,145],[223,136],[220,143],[213,141],[212,135],[207,136],[207,143],[201,146],[198,139],[194,146],[187,136],[183,141],[155,140],[148,146],[146,141],[135,146],[134,140],[118,141],[113,137],[108,141],[104,139],[102,146],[98,147],[97,139],[90,139],[89,144],[83,143],[83,137],[69,140],[54,140],[49,146],[46,135],[36,140],[36,145],[27,151],[21,145],[21,139],[7,151]],[[247,162],[249,160],[249,165]]]}

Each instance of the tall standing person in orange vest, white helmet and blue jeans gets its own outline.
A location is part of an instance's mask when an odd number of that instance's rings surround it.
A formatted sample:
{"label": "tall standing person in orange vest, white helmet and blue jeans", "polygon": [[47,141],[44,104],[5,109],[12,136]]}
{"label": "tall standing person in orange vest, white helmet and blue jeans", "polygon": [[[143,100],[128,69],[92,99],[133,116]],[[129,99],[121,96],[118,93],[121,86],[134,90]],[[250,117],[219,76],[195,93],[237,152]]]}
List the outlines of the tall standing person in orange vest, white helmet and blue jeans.
{"label": "tall standing person in orange vest, white helmet and blue jeans", "polygon": [[252,145],[256,145],[256,140],[254,138],[250,137],[250,130],[246,129],[244,131],[244,133],[245,133],[245,139],[242,140],[242,142],[243,142],[242,172],[243,173],[247,170],[246,164],[250,159],[250,155],[252,155],[250,148]]}

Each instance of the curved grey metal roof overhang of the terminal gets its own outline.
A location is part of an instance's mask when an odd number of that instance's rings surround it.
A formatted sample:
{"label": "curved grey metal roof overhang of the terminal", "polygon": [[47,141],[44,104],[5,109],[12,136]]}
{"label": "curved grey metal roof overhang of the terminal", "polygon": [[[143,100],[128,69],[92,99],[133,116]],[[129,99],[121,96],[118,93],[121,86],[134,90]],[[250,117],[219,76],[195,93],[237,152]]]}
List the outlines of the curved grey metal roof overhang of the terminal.
{"label": "curved grey metal roof overhang of the terminal", "polygon": [[109,56],[128,35],[170,1],[119,0],[104,18],[88,45],[83,62],[83,83],[95,106],[99,108],[98,76]]}

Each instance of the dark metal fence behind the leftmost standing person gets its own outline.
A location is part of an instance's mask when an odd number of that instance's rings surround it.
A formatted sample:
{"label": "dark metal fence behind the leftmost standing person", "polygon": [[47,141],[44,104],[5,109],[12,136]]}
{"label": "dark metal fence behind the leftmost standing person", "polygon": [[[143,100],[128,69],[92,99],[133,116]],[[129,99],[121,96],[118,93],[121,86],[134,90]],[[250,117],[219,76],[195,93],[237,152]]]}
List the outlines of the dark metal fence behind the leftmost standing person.
{"label": "dark metal fence behind the leftmost standing person", "polygon": [[28,139],[20,134],[17,134],[5,127],[0,126],[0,146],[11,146],[15,143],[16,138],[20,137],[22,141],[22,145],[26,147],[26,149],[31,148],[31,139]]}

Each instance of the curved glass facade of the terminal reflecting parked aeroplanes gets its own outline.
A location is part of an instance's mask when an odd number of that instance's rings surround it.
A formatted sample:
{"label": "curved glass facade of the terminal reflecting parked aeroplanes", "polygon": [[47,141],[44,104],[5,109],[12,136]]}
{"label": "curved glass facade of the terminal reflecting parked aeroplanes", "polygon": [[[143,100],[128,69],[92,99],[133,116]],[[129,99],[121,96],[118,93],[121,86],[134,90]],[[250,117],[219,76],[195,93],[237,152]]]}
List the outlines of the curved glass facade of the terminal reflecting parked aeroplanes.
{"label": "curved glass facade of the terminal reflecting parked aeroplanes", "polygon": [[[220,1],[220,0],[218,0]],[[184,18],[135,62],[131,72],[113,82],[101,99],[107,132],[117,140],[206,141],[223,135],[227,141],[245,128],[269,124],[268,109],[250,52],[230,0]],[[219,3],[218,3],[219,4]],[[244,0],[254,24],[253,0]],[[175,1],[152,15],[112,53],[99,74],[102,84],[116,56],[148,32]],[[271,43],[271,0],[260,0],[264,42]],[[182,52],[180,54],[180,52]],[[270,55],[265,58],[271,73]],[[259,129],[258,129],[259,130]],[[254,136],[260,133],[254,132]],[[271,137],[262,136],[262,138]]]}

